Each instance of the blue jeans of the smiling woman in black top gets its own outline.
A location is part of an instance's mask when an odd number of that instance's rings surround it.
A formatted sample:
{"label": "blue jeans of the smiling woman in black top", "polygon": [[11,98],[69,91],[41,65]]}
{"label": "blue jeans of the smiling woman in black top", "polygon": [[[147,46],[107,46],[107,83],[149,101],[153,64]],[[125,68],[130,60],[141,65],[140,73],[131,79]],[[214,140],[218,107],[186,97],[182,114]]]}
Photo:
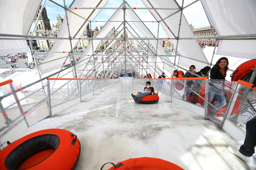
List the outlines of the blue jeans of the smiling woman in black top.
{"label": "blue jeans of the smiling woman in black top", "polygon": [[215,105],[218,109],[212,108],[212,112],[215,113],[219,109],[221,109],[223,106],[227,104],[226,98],[225,98],[225,93],[223,89],[218,89],[215,87],[210,87],[209,92],[208,92],[208,102],[212,102],[212,99],[216,97],[218,104]]}

